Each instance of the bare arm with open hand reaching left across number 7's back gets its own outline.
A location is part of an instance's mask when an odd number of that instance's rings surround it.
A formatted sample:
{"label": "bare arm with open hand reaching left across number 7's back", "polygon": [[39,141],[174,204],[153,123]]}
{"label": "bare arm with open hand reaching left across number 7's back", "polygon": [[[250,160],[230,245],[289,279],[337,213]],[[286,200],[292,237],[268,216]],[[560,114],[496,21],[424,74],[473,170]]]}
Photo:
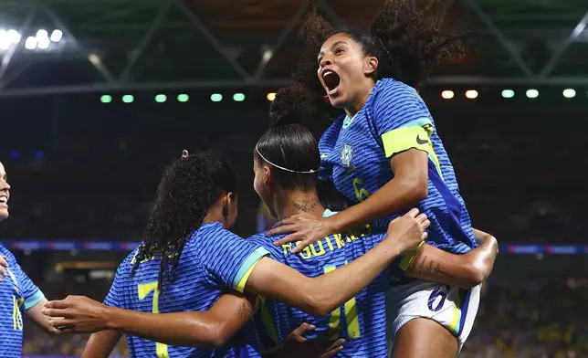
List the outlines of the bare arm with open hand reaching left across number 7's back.
{"label": "bare arm with open hand reaching left across number 7's back", "polygon": [[[152,314],[121,310],[82,296],[48,302],[43,313],[62,316],[51,324],[65,332],[111,330],[164,344],[209,348],[225,345],[257,311],[257,298],[232,292],[208,311]],[[106,338],[98,337],[102,345]],[[90,350],[91,351],[91,350]],[[108,355],[107,355],[108,356]]]}

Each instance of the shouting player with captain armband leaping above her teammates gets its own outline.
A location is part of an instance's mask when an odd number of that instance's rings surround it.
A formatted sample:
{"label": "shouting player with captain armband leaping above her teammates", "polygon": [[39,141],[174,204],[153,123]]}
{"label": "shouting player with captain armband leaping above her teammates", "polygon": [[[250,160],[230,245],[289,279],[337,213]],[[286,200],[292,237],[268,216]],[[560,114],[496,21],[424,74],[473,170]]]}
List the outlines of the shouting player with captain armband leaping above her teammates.
{"label": "shouting player with captain armband leaping above her teammates", "polygon": [[[315,62],[303,62],[297,79],[314,103],[326,93],[332,107],[345,111],[320,138],[320,176],[355,205],[327,218],[282,220],[268,235],[293,234],[277,244],[301,241],[299,252],[321,237],[417,205],[431,219],[428,243],[452,253],[476,247],[453,167],[414,89],[459,47],[455,36],[441,34],[435,6],[423,10],[416,3],[387,1],[368,32],[307,18],[303,29]],[[388,300],[394,356],[455,357],[478,311],[479,287],[398,282]]]}

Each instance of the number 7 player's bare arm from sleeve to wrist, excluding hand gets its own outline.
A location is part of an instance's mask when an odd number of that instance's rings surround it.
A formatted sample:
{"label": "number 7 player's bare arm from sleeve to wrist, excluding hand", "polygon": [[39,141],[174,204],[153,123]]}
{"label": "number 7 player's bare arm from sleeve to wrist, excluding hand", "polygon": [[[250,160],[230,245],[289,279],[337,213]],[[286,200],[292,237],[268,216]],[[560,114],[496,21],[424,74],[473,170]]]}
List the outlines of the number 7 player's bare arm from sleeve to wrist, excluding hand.
{"label": "number 7 player's bare arm from sleeve to wrist, excluding hand", "polygon": [[399,253],[391,243],[382,242],[350,264],[326,269],[326,275],[314,279],[269,258],[262,258],[247,280],[246,290],[285,302],[300,311],[323,316],[372,282]]}

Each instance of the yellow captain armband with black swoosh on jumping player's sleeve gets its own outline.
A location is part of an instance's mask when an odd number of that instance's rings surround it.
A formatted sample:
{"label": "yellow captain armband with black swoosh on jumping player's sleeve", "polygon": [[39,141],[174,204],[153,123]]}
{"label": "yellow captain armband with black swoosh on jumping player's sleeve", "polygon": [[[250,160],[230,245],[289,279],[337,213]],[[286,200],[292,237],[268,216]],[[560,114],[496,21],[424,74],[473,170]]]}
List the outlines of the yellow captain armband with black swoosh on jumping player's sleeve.
{"label": "yellow captain armband with black swoosh on jumping player's sleeve", "polygon": [[431,130],[426,125],[400,127],[393,131],[383,133],[383,151],[386,158],[413,148],[429,153],[430,134]]}

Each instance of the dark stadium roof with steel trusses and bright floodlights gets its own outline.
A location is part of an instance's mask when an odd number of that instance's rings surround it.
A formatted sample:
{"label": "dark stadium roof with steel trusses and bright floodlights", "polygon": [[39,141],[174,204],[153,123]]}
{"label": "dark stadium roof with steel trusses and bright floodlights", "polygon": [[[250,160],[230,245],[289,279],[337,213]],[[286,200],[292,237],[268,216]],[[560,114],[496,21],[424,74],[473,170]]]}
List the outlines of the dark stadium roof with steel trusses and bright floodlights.
{"label": "dark stadium roof with steel trusses and bright floodlights", "polygon": [[[382,4],[0,0],[0,97],[276,88],[289,83],[313,5],[335,24],[367,26]],[[588,84],[586,0],[456,0],[449,16],[471,28],[471,51],[431,84]]]}

